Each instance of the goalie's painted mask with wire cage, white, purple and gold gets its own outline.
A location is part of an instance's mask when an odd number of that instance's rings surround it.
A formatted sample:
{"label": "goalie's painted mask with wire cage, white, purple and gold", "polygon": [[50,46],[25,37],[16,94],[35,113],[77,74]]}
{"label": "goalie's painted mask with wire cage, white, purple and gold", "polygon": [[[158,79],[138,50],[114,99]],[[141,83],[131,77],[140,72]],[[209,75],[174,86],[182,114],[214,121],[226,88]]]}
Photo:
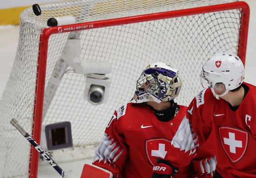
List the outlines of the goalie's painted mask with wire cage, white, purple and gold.
{"label": "goalie's painted mask with wire cage, white, purple and gold", "polygon": [[150,64],[141,73],[132,103],[170,101],[178,96],[182,81],[178,70],[162,62]]}

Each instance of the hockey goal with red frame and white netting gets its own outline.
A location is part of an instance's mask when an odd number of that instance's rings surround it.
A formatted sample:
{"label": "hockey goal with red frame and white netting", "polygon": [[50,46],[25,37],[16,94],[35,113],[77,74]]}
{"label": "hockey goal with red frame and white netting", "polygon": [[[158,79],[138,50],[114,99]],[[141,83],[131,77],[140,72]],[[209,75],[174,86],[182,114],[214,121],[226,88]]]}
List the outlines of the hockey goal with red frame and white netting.
{"label": "hockey goal with red frame and white netting", "polygon": [[[183,79],[177,102],[201,89],[202,62],[236,53],[245,62],[249,7],[232,0],[72,0],[21,13],[13,68],[0,100],[0,177],[36,178],[38,152],[10,124],[15,118],[40,143],[41,126],[69,121],[74,147],[99,143],[114,110],[128,102],[142,69],[162,61]],[[52,17],[76,23],[48,27]],[[78,62],[109,62],[108,101],[84,99],[86,77],[61,59],[68,39],[80,40]],[[59,79],[57,82],[54,79]],[[58,82],[59,81],[59,82]],[[32,129],[31,129],[32,128]]]}

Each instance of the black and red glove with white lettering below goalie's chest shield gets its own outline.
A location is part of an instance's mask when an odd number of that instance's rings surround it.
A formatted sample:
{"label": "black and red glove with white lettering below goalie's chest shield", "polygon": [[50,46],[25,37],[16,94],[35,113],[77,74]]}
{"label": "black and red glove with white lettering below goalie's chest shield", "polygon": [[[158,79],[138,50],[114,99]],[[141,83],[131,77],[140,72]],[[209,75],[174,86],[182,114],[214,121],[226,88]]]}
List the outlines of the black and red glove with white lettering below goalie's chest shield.
{"label": "black and red glove with white lettering below goalie's chest shield", "polygon": [[152,178],[172,178],[172,176],[179,170],[168,160],[156,158],[156,165],[153,167]]}

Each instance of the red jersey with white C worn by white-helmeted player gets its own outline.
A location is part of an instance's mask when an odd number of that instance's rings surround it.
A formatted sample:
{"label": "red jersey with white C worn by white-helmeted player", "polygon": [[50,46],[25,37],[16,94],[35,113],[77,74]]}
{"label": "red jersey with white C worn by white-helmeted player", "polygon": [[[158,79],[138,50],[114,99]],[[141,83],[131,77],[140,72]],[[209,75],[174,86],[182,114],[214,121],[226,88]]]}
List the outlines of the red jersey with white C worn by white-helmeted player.
{"label": "red jersey with white C worn by white-helmeted player", "polygon": [[[249,91],[236,111],[210,89],[200,92],[188,109],[201,158],[216,154],[216,170],[224,178],[256,178],[256,86],[243,85]],[[201,165],[204,172],[203,161]]]}

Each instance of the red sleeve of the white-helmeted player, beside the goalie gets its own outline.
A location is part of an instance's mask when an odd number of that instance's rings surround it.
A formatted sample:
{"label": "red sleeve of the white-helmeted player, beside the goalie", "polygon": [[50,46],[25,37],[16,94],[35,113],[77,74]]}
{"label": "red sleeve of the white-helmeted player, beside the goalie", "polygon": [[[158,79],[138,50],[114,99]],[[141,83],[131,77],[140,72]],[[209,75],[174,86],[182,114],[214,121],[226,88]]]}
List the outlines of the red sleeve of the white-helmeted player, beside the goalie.
{"label": "red sleeve of the white-helmeted player, beside the goalie", "polygon": [[196,156],[192,160],[194,169],[193,178],[212,178],[216,169],[216,150],[214,137],[211,134],[210,119],[207,118],[209,120],[205,120],[203,118],[205,114],[209,114],[210,110],[202,110],[205,104],[202,97],[204,96],[199,93],[190,103],[187,112],[192,134],[195,135],[194,142],[197,145]]}

